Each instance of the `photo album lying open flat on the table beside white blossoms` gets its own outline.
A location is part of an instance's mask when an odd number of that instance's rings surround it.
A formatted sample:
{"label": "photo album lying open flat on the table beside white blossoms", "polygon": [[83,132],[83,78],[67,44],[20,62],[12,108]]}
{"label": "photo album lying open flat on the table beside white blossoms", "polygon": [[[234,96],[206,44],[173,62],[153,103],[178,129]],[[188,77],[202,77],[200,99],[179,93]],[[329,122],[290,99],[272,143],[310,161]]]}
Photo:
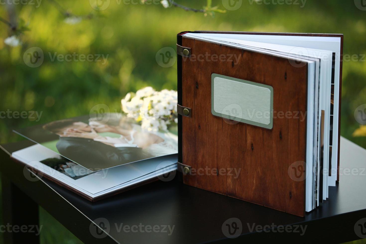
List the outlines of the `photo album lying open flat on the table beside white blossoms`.
{"label": "photo album lying open flat on the table beside white blossoms", "polygon": [[118,114],[109,114],[107,120],[58,120],[14,132],[34,142],[11,153],[25,164],[25,174],[45,177],[93,202],[171,178],[177,168],[176,135],[144,131]]}

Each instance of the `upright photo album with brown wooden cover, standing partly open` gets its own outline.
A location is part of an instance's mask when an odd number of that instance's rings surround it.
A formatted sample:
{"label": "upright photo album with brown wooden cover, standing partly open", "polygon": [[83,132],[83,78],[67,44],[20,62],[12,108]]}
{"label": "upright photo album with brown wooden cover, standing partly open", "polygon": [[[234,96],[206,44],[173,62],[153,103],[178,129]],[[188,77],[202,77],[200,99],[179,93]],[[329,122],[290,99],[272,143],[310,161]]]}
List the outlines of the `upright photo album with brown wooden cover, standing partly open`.
{"label": "upright photo album with brown wooden cover, standing partly open", "polygon": [[342,34],[179,33],[178,161],[243,169],[184,183],[299,216],[318,207],[337,181],[342,49]]}

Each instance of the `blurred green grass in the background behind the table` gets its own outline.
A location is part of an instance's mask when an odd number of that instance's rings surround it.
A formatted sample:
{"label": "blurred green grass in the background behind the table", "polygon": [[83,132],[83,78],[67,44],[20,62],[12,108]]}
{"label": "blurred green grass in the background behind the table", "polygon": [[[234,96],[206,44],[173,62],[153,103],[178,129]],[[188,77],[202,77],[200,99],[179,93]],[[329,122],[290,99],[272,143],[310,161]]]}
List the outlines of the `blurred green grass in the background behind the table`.
{"label": "blurred green grass in the background behind the table", "polygon": [[[205,1],[180,0],[180,4],[201,8]],[[366,53],[365,11],[355,7],[354,1],[306,1],[299,5],[258,5],[243,0],[239,10],[216,14],[215,18],[179,8],[161,5],[126,5],[111,0],[103,11],[91,8],[89,1],[63,0],[59,3],[72,14],[101,13],[103,16],[82,20],[75,25],[64,22],[65,16],[43,0],[39,8],[18,5],[18,17],[29,23],[30,31],[22,34],[22,46],[9,47],[4,39],[11,35],[0,23],[0,111],[42,111],[37,123],[86,115],[97,104],[107,104],[111,112],[120,111],[120,99],[129,91],[144,86],[155,89],[176,89],[176,64],[170,68],[159,66],[155,60],[159,49],[175,49],[176,34],[185,30],[268,31],[344,34],[344,54]],[[213,5],[221,1],[213,0]],[[7,19],[5,7],[0,16]],[[44,63],[38,68],[25,65],[23,53],[31,47],[40,47]],[[101,62],[51,61],[49,54],[104,54]],[[366,103],[366,59],[343,63],[341,135],[366,148],[366,138],[353,138],[359,127],[354,110]],[[32,119],[1,119],[0,143],[21,138],[12,128],[27,127]],[[67,230],[58,226],[52,217],[41,211],[49,221],[49,232],[44,243],[73,243],[55,239],[67,236]],[[53,236],[53,237],[52,237]],[[69,241],[70,241],[69,240]],[[76,243],[76,241],[75,241]]]}

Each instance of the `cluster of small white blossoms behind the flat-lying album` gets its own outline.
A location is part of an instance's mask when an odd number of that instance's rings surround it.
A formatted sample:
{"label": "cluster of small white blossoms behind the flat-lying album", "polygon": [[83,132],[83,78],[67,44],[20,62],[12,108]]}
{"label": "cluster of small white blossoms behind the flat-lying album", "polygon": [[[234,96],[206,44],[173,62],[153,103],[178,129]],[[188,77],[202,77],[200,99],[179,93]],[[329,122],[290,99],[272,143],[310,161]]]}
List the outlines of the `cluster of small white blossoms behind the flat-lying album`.
{"label": "cluster of small white blossoms behind the flat-lying album", "polygon": [[148,86],[136,93],[127,93],[121,100],[122,111],[127,117],[141,123],[147,131],[167,131],[178,124],[178,94],[174,90],[156,91]]}

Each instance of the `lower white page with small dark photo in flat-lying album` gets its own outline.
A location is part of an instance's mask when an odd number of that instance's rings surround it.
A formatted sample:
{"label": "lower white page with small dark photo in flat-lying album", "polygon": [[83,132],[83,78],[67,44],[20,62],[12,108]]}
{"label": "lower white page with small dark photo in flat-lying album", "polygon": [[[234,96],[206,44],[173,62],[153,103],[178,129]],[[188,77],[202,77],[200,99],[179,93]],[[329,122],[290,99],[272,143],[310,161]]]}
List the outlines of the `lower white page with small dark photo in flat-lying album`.
{"label": "lower white page with small dark photo in flat-lying album", "polygon": [[15,151],[12,157],[39,172],[38,177],[60,181],[90,197],[171,172],[177,161],[174,154],[92,172],[40,144]]}

